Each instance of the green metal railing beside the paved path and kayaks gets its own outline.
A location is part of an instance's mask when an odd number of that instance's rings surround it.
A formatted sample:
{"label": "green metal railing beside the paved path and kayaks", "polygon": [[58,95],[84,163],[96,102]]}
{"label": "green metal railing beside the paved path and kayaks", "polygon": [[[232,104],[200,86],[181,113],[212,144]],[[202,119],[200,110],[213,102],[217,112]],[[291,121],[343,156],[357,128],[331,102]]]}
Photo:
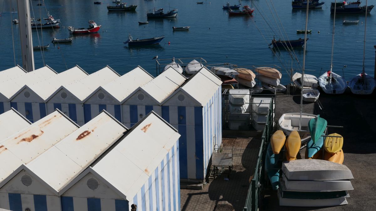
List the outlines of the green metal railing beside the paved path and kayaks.
{"label": "green metal railing beside the paved path and kayaks", "polygon": [[253,178],[249,184],[246,204],[244,205],[243,211],[257,211],[260,207],[260,201],[263,197],[261,191],[265,184],[265,153],[267,146],[270,142],[270,136],[273,132],[274,126],[274,110],[273,110],[273,103],[274,99],[270,102],[269,105],[269,112],[267,115],[267,120],[265,124],[264,131],[262,132],[261,137],[261,145],[260,150],[257,158],[257,163],[255,167],[255,173],[253,174]]}

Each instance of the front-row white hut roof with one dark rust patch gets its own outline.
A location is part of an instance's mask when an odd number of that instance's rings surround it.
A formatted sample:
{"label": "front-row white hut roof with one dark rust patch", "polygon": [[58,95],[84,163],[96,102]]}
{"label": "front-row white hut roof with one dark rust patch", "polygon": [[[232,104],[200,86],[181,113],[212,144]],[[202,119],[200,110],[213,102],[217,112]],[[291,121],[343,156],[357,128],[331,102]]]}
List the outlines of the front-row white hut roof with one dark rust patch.
{"label": "front-row white hut roof with one dark rust patch", "polygon": [[27,164],[27,167],[58,192],[123,136],[126,130],[109,113],[102,111]]}

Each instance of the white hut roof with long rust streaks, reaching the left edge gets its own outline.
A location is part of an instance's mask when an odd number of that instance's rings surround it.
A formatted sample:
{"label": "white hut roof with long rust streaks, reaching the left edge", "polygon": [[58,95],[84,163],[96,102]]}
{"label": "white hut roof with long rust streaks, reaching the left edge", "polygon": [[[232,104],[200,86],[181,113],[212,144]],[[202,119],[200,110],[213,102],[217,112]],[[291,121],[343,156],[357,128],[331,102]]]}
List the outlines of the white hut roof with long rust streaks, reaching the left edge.
{"label": "white hut roof with long rust streaks, reaching the left edge", "polygon": [[36,121],[29,127],[0,142],[0,181],[20,164],[27,164],[64,139],[79,126],[59,110]]}

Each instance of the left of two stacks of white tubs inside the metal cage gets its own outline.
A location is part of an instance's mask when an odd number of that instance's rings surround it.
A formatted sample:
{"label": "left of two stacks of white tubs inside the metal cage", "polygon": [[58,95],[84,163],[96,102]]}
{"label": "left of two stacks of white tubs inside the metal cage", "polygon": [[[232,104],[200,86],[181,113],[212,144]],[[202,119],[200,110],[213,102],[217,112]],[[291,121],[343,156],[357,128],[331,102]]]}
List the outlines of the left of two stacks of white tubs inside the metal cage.
{"label": "left of two stacks of white tubs inside the metal cage", "polygon": [[246,130],[250,125],[250,92],[248,89],[229,90],[229,129]]}

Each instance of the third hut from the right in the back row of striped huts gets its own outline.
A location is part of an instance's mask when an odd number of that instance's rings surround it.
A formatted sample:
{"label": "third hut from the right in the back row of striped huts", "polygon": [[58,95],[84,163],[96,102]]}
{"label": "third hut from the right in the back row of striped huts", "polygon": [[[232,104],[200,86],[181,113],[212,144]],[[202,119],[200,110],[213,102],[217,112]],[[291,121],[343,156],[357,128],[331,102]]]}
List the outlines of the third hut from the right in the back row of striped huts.
{"label": "third hut from the right in the back row of striped huts", "polygon": [[83,102],[85,122],[97,116],[103,109],[121,122],[123,113],[121,104],[124,99],[153,78],[146,70],[138,66],[120,78],[98,87]]}

